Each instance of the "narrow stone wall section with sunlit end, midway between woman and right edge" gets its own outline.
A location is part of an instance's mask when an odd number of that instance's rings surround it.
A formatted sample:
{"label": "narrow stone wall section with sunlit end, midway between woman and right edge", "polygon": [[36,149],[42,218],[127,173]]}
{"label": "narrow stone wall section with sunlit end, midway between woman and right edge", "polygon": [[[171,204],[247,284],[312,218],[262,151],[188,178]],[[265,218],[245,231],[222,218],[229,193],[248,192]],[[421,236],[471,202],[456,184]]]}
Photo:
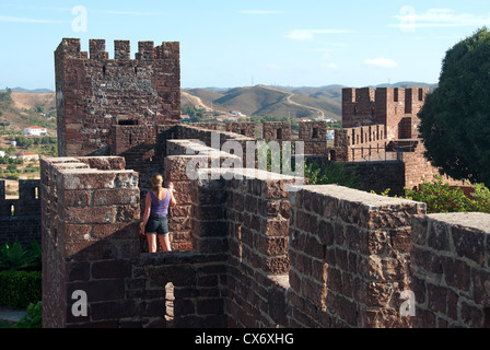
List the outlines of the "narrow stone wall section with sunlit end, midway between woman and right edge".
{"label": "narrow stone wall section with sunlit end, midway between woman and right edge", "polygon": [[292,177],[257,172],[229,184],[230,327],[289,325],[287,299],[290,201]]}

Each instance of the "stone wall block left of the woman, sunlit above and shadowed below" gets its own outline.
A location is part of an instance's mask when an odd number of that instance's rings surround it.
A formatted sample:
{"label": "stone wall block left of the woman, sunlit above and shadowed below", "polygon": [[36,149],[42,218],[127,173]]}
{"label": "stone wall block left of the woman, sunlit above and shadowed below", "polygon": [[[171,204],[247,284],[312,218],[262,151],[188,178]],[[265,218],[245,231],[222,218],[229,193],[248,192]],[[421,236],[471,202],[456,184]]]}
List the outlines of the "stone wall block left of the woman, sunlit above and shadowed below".
{"label": "stone wall block left of the woman, sunlit above and shadowed below", "polygon": [[129,260],[139,255],[138,174],[120,158],[42,160],[43,325],[68,327],[72,292],[89,294],[93,322],[124,317]]}

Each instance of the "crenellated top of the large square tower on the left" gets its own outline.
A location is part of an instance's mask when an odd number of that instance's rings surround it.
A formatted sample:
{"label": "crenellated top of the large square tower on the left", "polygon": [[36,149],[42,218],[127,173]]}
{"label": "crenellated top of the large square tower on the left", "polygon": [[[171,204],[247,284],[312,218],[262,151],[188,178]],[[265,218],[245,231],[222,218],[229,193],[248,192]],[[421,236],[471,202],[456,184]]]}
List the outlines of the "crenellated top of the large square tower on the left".
{"label": "crenellated top of the large square tower on the left", "polygon": [[[58,46],[57,52],[65,54],[71,58],[90,60],[109,60],[109,54],[106,51],[105,39],[90,39],[89,52],[81,50],[81,40],[79,38],[63,38]],[[136,60],[160,60],[172,59],[180,54],[178,42],[164,42],[155,46],[154,42],[138,42],[138,52]],[[131,44],[129,40],[114,40],[114,59],[130,60]]]}

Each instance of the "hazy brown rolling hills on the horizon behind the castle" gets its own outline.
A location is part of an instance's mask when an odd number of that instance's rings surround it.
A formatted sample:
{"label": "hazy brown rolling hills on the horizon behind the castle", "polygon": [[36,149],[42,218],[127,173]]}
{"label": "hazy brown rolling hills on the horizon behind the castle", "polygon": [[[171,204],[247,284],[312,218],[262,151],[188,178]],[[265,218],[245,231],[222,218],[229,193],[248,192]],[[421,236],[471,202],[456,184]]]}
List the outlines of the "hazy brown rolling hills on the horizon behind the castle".
{"label": "hazy brown rolling hills on the horizon behind the castle", "polygon": [[[429,88],[436,84],[421,82],[397,82],[369,88]],[[253,117],[332,118],[341,119],[341,84],[325,86],[241,86],[183,89],[182,107],[202,108],[228,113],[240,110]],[[0,92],[5,94],[5,92]],[[12,103],[0,104],[2,122],[10,122],[16,130],[28,126],[44,126],[56,131],[56,93],[48,89],[11,89]],[[43,113],[44,112],[44,113]],[[43,114],[45,114],[43,116]]]}

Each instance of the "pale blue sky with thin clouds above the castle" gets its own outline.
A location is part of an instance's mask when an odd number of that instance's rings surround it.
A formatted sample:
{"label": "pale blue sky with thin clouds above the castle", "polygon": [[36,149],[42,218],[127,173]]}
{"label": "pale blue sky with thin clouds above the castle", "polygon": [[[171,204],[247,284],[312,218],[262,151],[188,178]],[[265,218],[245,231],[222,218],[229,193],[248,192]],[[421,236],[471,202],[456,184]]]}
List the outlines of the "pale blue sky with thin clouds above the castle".
{"label": "pale blue sky with thin clouds above the castle", "polygon": [[63,37],[180,42],[183,88],[365,86],[439,81],[448,48],[490,1],[160,0],[0,2],[0,88],[55,89]]}

